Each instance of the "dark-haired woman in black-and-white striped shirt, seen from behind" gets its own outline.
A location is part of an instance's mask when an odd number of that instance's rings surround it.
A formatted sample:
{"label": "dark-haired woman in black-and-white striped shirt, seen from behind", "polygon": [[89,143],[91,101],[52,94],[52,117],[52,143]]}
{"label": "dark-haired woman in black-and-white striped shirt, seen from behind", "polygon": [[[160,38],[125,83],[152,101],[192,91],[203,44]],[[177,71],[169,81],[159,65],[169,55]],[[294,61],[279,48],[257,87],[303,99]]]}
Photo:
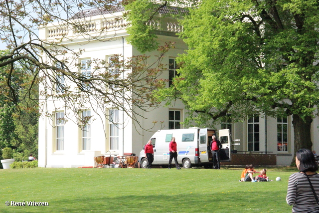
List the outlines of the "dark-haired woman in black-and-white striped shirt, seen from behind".
{"label": "dark-haired woman in black-and-white striped shirt, seen from behind", "polygon": [[293,213],[319,213],[319,205],[308,181],[319,196],[319,174],[314,154],[308,149],[296,153],[296,165],[299,173],[290,176],[287,190],[287,204],[293,206]]}

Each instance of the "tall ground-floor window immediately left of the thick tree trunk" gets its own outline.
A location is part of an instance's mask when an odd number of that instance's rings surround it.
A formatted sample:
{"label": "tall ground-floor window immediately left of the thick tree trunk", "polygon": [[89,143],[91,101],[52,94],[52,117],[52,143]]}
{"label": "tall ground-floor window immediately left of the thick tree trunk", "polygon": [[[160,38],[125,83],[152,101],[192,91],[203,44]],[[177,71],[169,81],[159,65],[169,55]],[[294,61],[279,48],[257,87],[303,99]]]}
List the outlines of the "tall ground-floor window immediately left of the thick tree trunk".
{"label": "tall ground-floor window immediately left of the thick tree trunk", "polygon": [[288,151],[288,119],[277,118],[277,150]]}

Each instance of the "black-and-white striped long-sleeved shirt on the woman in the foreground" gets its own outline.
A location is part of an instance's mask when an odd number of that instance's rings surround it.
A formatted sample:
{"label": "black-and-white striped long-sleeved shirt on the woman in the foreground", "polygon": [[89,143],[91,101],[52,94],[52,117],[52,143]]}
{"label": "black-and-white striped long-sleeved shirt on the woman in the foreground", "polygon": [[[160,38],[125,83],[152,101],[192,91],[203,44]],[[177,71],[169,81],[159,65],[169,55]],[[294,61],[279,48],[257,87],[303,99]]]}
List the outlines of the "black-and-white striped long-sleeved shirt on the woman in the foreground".
{"label": "black-and-white striped long-sleeved shirt on the woman in the foreground", "polygon": [[[319,196],[319,174],[309,175],[309,179]],[[286,201],[293,205],[293,213],[319,213],[313,190],[303,173],[294,173],[289,177]]]}

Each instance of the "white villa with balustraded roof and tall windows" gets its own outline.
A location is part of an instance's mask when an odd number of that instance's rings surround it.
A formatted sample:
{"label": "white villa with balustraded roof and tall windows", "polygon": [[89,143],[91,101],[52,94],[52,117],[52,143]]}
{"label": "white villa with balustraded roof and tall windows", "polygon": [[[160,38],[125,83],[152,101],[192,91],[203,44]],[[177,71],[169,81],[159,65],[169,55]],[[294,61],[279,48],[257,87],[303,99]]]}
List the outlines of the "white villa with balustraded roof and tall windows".
{"label": "white villa with balustraded roof and tall windows", "polygon": [[[163,8],[163,12],[164,12]],[[106,39],[112,38],[108,42],[99,40],[91,40],[76,38],[72,30],[65,30],[63,27],[57,27],[54,24],[48,24],[39,29],[39,36],[46,41],[55,41],[61,37],[61,33],[68,37],[74,36],[71,41],[63,41],[62,43],[69,48],[85,49],[79,59],[85,64],[87,60],[94,58],[108,59],[114,54],[121,54],[125,58],[133,55],[140,55],[134,46],[127,43],[128,33],[122,24],[125,22],[122,18],[122,10],[115,11],[110,14],[101,14],[97,10],[87,10],[86,15],[90,17],[92,33],[94,29],[105,27],[108,29]],[[107,22],[105,21],[107,18]],[[163,73],[162,78],[171,79],[175,75],[174,60],[187,49],[187,46],[179,39],[175,33],[182,30],[182,27],[177,24],[177,21],[169,18],[160,19],[159,24],[161,29],[158,33],[158,41],[160,43],[175,42],[175,48],[172,48],[166,53],[165,62],[167,71]],[[157,52],[150,52],[150,60],[155,60]],[[153,58],[153,59],[152,59]],[[168,67],[168,64],[170,66]],[[75,68],[76,69],[76,68]],[[76,71],[76,70],[74,70]],[[168,86],[168,83],[167,83]],[[44,89],[40,87],[40,90]],[[135,153],[139,155],[143,146],[148,142],[153,132],[146,131],[152,127],[153,121],[158,121],[153,128],[153,131],[163,129],[184,128],[180,122],[183,122],[186,110],[180,101],[176,101],[174,105],[169,107],[156,108],[150,112],[141,110],[140,124],[143,128],[136,127],[132,119],[124,112],[107,108],[107,114],[114,116],[114,121],[120,125],[116,127],[114,123],[109,123],[108,119],[101,119],[99,115],[87,106],[83,111],[83,116],[93,116],[92,122],[87,125],[85,130],[79,128],[74,122],[57,122],[58,118],[64,116],[63,102],[51,104],[47,102],[47,112],[55,113],[55,118],[41,116],[39,118],[39,155],[38,166],[49,168],[74,168],[80,166],[93,166],[94,156],[109,155],[117,153]],[[57,110],[58,107],[58,110]],[[98,110],[97,110],[98,112]],[[102,111],[101,111],[102,112]],[[103,115],[101,113],[100,115]],[[163,122],[160,124],[160,122]],[[319,144],[316,140],[319,138],[319,119],[315,119],[312,125],[312,141],[314,142],[314,150],[319,151]],[[210,127],[207,127],[210,128]],[[294,134],[292,118],[277,119],[270,117],[253,117],[243,122],[232,123],[226,121],[217,129],[230,129],[233,139],[240,139],[240,145],[235,146],[237,155],[240,154],[272,154],[276,156],[276,165],[290,165],[294,155]],[[106,133],[106,135],[105,135]],[[235,155],[235,154],[234,154]],[[258,157],[258,156],[257,156]],[[236,165],[246,165],[246,162],[234,162]]]}

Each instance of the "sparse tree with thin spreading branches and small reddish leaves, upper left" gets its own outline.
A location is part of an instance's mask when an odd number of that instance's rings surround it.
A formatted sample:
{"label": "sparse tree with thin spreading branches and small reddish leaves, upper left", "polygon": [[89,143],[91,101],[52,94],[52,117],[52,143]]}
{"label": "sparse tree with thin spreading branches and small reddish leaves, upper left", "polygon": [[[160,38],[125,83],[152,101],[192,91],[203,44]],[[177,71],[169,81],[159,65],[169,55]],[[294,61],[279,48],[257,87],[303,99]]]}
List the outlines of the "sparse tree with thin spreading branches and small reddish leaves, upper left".
{"label": "sparse tree with thin spreading branches and small reddish leaves, upper left", "polygon": [[[154,62],[157,69],[152,68],[153,64],[148,64],[148,57],[143,55],[129,59],[118,55],[112,58],[111,63],[92,58],[89,64],[91,76],[88,77],[82,75],[82,64],[78,62],[85,49],[75,51],[66,44],[76,42],[77,38],[87,39],[88,42],[107,42],[112,39],[113,37],[108,38],[108,27],[102,27],[92,33],[91,28],[95,26],[95,22],[91,20],[87,9],[94,10],[94,14],[103,18],[105,14],[124,11],[125,3],[125,0],[2,0],[0,38],[9,50],[0,56],[0,67],[8,67],[9,70],[5,78],[6,84],[3,84],[7,91],[3,97],[17,106],[21,103],[17,95],[21,91],[12,87],[15,70],[19,67],[28,70],[31,75],[27,84],[23,82],[23,85],[18,85],[24,88],[24,93],[19,97],[25,100],[25,106],[34,106],[28,104],[39,101],[32,89],[38,84],[42,85],[44,90],[40,91],[40,97],[43,98],[40,103],[43,104],[39,105],[39,112],[43,115],[50,116],[45,108],[45,100],[50,99],[64,101],[64,109],[75,114],[78,114],[85,104],[94,103],[93,105],[100,108],[112,105],[138,121],[139,114],[134,113],[135,109],[149,110],[157,105],[151,91],[164,85],[164,82],[156,78],[161,73],[160,61],[169,45],[159,49],[158,60]],[[122,17],[117,20],[122,21],[117,27],[126,27]],[[103,21],[106,25],[113,26],[109,19],[105,18]],[[57,33],[59,39],[49,42],[37,32],[38,28],[52,23],[57,28],[53,33]],[[69,37],[67,31],[73,31],[78,37]],[[61,83],[61,78],[68,84]],[[52,91],[56,88],[63,90],[63,93],[54,94]],[[37,110],[37,106],[35,108]],[[95,109],[97,107],[93,110]],[[85,120],[78,120],[77,123],[85,125]]]}

